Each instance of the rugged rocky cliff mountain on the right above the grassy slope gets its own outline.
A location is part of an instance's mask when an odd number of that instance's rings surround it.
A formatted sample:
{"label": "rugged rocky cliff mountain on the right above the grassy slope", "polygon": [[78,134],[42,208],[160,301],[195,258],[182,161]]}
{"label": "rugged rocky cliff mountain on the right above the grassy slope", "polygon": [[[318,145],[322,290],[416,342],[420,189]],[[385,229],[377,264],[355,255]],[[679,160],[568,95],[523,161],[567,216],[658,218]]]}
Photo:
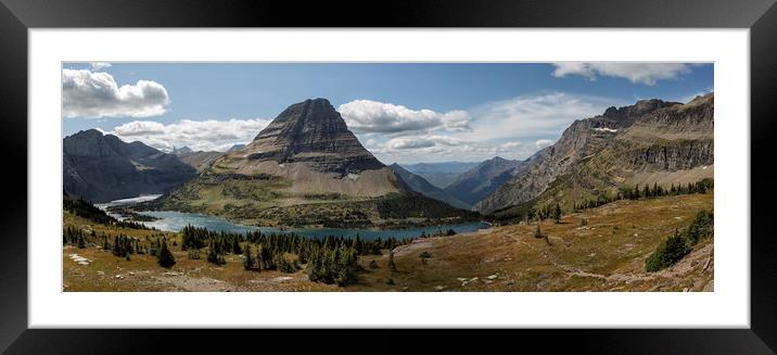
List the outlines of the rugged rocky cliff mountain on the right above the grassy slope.
{"label": "rugged rocky cliff mountain on the right above the grassy slope", "polygon": [[658,181],[671,173],[713,165],[713,111],[714,98],[708,94],[687,104],[639,101],[576,121],[475,208],[489,213],[550,199],[571,205],[636,178],[646,181],[650,175]]}

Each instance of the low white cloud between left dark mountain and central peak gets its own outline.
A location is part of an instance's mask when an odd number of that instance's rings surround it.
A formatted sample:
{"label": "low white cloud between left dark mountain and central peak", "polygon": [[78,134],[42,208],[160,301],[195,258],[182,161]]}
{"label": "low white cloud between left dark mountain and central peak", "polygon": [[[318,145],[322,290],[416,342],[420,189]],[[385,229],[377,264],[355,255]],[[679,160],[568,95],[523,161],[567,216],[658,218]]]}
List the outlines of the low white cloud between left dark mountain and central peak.
{"label": "low white cloud between left dark mountain and central peak", "polygon": [[269,119],[191,121],[164,125],[153,121],[133,121],[109,134],[124,141],[139,140],[164,151],[189,147],[195,151],[226,151],[237,143],[251,142],[270,123]]}

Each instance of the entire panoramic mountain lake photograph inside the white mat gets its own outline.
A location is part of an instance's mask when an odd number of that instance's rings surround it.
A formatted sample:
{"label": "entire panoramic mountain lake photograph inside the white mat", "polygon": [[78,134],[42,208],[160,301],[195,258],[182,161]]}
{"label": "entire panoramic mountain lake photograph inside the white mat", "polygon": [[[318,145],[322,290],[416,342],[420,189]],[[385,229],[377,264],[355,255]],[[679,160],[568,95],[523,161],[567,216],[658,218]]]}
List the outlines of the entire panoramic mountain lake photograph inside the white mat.
{"label": "entire panoramic mountain lake photograph inside the white mat", "polygon": [[712,292],[714,64],[62,65],[64,292]]}

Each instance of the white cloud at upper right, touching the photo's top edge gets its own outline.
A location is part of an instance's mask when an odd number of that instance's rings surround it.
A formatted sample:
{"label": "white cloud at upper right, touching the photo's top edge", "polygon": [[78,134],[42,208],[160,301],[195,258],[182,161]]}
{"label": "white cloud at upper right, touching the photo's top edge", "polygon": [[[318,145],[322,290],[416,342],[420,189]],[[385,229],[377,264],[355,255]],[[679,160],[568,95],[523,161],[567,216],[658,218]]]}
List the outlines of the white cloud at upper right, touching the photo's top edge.
{"label": "white cloud at upper right, touching the photo's top edge", "polygon": [[690,65],[683,63],[556,63],[553,76],[581,75],[590,80],[597,76],[625,78],[635,84],[655,85],[659,80],[676,79],[690,73]]}

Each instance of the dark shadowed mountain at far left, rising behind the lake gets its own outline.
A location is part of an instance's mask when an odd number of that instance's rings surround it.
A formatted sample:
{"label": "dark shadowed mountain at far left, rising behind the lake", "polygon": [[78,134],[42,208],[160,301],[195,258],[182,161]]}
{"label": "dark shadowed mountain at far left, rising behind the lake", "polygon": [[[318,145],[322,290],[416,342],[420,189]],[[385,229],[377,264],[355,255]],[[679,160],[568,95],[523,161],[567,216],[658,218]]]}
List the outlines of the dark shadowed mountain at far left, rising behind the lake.
{"label": "dark shadowed mountain at far left, rising behind the lake", "polygon": [[64,192],[92,202],[165,193],[196,172],[173,154],[95,129],[63,140]]}

